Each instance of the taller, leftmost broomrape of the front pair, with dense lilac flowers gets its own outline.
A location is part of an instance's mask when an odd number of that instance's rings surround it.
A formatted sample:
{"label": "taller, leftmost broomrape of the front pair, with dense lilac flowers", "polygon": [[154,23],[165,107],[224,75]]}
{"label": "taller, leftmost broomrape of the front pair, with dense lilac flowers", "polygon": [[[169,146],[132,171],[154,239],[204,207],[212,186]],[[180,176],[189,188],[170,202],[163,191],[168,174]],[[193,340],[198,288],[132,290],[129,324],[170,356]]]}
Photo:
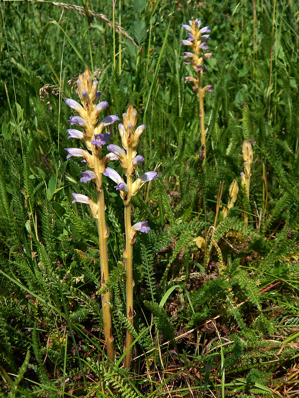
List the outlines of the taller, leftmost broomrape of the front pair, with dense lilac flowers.
{"label": "taller, leftmost broomrape of the front pair, with dense lilac flowers", "polygon": [[78,95],[82,105],[79,102],[71,99],[66,99],[65,103],[72,109],[78,112],[79,116],[72,116],[70,118],[71,125],[77,125],[83,129],[77,130],[75,128],[68,129],[69,139],[78,138],[84,142],[87,150],[81,148],[65,148],[68,152],[67,159],[71,156],[83,157],[82,163],[88,167],[87,171],[81,172],[81,182],[87,184],[88,181],[93,182],[97,192],[97,202],[88,198],[85,195],[73,193],[73,203],[81,202],[89,204],[93,217],[97,220],[99,231],[99,248],[101,261],[101,281],[103,288],[102,295],[102,312],[104,323],[105,343],[108,358],[114,361],[114,345],[112,336],[111,323],[111,308],[110,308],[110,292],[105,292],[105,286],[109,279],[108,268],[108,252],[107,252],[107,238],[109,236],[105,221],[105,201],[103,192],[102,174],[105,172],[107,163],[110,160],[118,159],[114,154],[110,153],[107,156],[102,156],[102,146],[110,139],[110,132],[104,132],[105,128],[110,124],[119,120],[117,115],[110,115],[104,117],[98,122],[100,113],[108,106],[107,101],[101,101],[101,93],[98,91],[97,80],[92,80],[89,68],[79,76],[77,81]]}

